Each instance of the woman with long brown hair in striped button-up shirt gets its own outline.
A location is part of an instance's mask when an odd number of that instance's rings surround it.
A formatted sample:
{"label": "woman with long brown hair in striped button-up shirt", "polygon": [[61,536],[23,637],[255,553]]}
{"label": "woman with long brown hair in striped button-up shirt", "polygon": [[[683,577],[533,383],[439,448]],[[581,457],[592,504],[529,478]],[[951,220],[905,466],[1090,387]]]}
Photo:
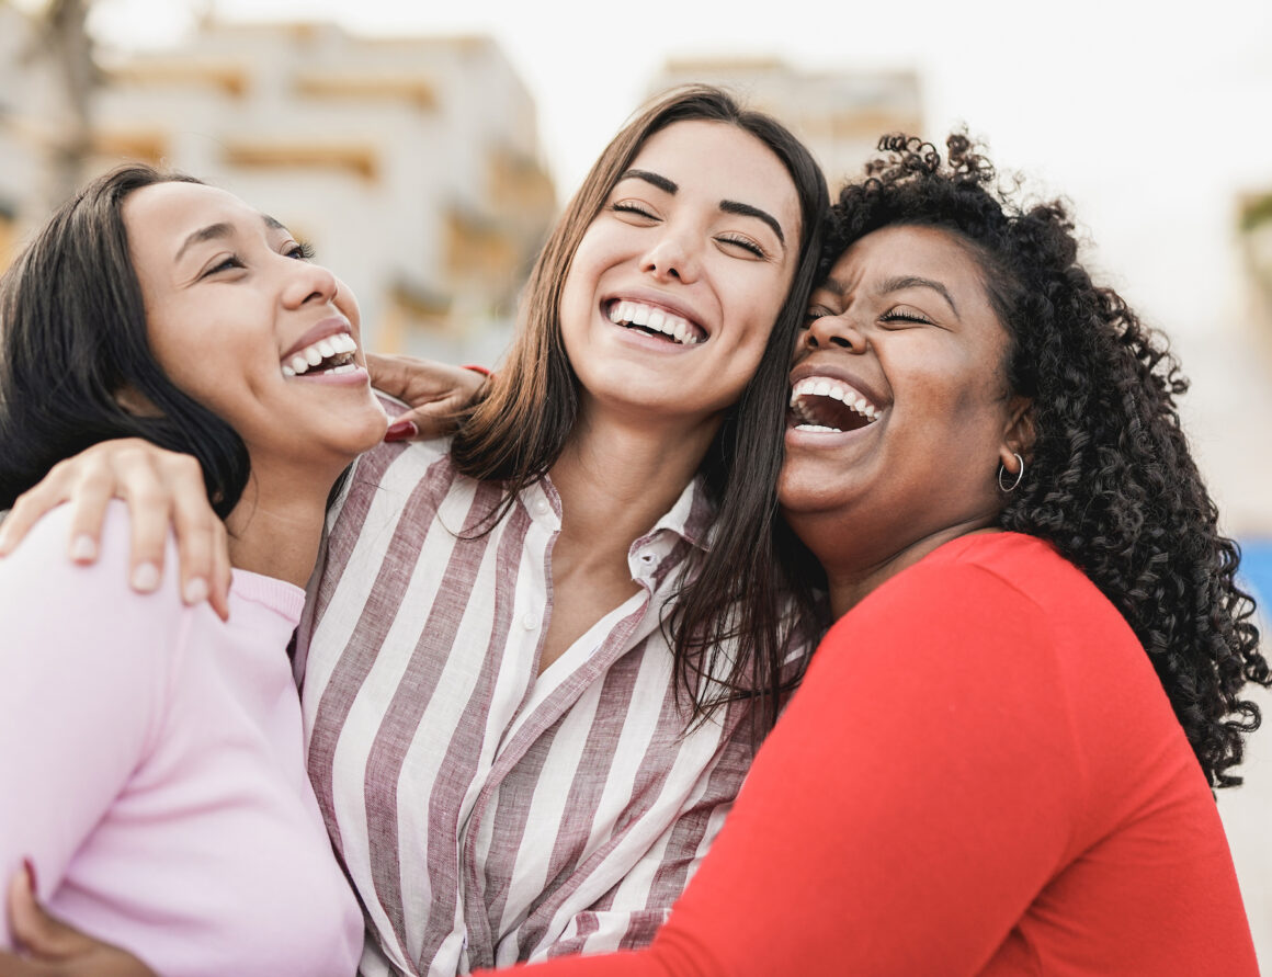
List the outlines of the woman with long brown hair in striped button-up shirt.
{"label": "woman with long brown hair in striped button-up shirt", "polygon": [[655,102],[548,239],[454,441],[359,462],[298,667],[363,973],[640,945],[665,918],[803,658],[764,541],[824,206],[771,118]]}

